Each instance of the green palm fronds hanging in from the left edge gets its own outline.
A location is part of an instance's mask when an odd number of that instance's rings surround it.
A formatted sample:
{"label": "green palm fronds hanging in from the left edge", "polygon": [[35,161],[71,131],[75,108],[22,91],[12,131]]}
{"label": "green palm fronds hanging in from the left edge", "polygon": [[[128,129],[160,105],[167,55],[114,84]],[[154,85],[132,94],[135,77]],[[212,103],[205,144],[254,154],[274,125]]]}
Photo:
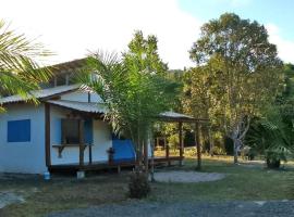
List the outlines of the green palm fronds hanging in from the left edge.
{"label": "green palm fronds hanging in from the left edge", "polygon": [[49,69],[40,67],[38,61],[51,53],[42,44],[9,28],[0,21],[0,98],[20,94],[37,102],[29,91],[39,89],[39,85],[50,77]]}

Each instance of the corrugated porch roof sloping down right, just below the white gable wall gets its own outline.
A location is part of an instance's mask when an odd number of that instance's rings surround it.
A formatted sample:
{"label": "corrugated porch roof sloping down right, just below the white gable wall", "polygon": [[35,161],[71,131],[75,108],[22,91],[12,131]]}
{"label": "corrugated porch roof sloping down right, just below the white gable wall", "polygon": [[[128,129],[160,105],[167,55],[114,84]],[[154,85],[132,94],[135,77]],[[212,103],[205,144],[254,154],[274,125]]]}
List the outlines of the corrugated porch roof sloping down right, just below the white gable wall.
{"label": "corrugated porch roof sloping down right, just below the white gable wall", "polygon": [[48,100],[47,102],[81,112],[88,112],[88,113],[107,112],[107,107],[103,103],[76,102],[69,100]]}

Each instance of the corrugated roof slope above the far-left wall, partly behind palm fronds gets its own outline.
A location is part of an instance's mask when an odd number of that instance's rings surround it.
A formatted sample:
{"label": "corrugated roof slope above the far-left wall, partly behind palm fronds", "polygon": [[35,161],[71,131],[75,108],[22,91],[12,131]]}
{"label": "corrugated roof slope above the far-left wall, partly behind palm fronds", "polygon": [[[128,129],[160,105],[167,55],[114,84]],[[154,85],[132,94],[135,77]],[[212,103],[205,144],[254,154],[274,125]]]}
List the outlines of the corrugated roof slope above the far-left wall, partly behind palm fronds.
{"label": "corrugated roof slope above the far-left wall, partly behind palm fronds", "polygon": [[[77,90],[77,89],[79,89],[79,87],[81,87],[81,85],[59,86],[59,87],[54,87],[54,88],[34,90],[30,92],[30,94],[34,95],[36,99],[42,99],[42,98],[49,98],[49,97],[52,97],[56,94],[60,94],[63,92]],[[0,99],[0,104],[12,103],[12,102],[23,102],[23,101],[26,101],[28,99],[24,99],[21,95],[15,94],[15,95],[10,95],[10,97]]]}

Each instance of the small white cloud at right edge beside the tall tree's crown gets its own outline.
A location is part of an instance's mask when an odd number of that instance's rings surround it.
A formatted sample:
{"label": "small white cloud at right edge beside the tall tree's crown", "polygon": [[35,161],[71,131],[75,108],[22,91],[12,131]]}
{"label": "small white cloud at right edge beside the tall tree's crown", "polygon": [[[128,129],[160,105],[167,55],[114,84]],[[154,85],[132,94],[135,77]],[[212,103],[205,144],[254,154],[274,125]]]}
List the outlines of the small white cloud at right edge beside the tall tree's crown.
{"label": "small white cloud at right edge beside the tall tree's crown", "polygon": [[269,41],[277,44],[279,56],[286,63],[294,63],[294,40],[284,39],[275,24],[267,24]]}

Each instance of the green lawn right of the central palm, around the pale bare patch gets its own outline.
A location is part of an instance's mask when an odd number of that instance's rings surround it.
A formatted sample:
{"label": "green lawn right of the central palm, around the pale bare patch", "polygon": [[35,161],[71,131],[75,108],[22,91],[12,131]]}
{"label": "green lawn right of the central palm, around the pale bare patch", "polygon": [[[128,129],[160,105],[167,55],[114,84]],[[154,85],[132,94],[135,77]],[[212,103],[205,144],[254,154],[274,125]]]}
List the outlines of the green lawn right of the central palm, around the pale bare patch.
{"label": "green lawn right of the central palm, around the pale bare patch", "polygon": [[[185,170],[195,168],[186,161]],[[151,201],[259,201],[294,199],[293,169],[268,170],[228,162],[204,161],[203,171],[222,173],[222,180],[200,183],[156,183]]]}

